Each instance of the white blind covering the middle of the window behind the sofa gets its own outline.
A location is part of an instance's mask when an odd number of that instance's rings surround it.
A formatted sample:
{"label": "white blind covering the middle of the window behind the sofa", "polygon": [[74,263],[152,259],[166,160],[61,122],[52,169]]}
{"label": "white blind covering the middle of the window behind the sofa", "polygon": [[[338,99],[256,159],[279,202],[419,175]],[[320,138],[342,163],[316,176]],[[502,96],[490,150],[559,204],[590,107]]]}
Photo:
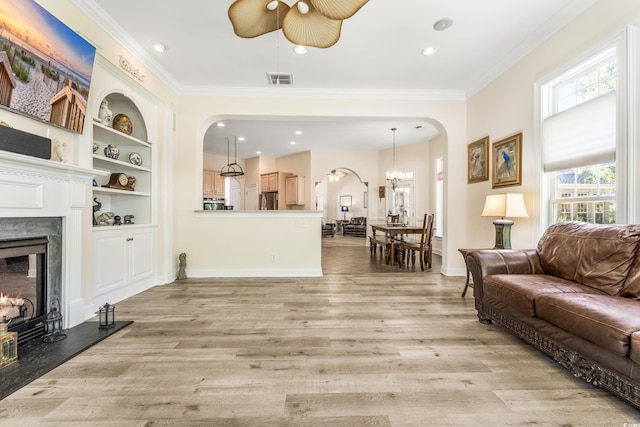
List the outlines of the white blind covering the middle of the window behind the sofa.
{"label": "white blind covering the middle of the window behind the sofa", "polygon": [[608,92],[544,119],[544,171],[609,163],[616,158],[616,93]]}

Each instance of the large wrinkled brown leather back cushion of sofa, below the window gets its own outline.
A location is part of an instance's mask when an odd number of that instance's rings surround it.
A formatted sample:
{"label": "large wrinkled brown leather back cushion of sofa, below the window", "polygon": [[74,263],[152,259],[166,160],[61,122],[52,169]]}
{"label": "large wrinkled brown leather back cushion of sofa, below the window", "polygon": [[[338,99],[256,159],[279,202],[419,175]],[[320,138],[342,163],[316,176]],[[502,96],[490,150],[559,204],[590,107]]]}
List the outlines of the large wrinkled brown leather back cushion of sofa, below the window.
{"label": "large wrinkled brown leather back cushion of sofa, below the window", "polygon": [[640,242],[640,225],[563,222],[538,242],[545,273],[618,295]]}

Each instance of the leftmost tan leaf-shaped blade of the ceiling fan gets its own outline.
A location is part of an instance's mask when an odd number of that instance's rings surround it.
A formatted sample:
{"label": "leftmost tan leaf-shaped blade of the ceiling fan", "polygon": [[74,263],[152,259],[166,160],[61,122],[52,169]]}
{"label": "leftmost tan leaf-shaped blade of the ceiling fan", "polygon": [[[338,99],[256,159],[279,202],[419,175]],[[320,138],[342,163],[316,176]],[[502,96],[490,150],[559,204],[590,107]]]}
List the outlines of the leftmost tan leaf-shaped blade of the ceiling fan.
{"label": "leftmost tan leaf-shaped blade of the ceiling fan", "polygon": [[238,37],[258,37],[282,27],[289,5],[279,1],[276,9],[269,10],[271,1],[236,0],[229,6],[229,20]]}

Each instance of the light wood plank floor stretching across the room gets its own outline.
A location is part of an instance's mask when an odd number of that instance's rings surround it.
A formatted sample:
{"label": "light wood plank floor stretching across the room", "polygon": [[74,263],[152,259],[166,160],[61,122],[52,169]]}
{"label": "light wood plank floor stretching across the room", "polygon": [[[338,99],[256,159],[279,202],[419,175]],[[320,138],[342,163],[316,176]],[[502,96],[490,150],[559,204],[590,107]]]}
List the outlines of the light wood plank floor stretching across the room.
{"label": "light wood plank floor stretching across the room", "polygon": [[[438,257],[434,257],[438,262]],[[323,239],[322,278],[188,279],[0,401],[1,426],[624,426],[640,412],[476,319],[463,279]],[[0,371],[1,378],[1,371]]]}

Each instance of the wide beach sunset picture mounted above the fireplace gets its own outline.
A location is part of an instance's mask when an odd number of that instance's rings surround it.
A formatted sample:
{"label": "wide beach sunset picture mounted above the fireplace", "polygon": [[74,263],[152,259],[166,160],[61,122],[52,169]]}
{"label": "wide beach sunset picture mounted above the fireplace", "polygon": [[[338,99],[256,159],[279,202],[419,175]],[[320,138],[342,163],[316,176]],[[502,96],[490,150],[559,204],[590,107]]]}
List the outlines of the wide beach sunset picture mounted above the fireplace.
{"label": "wide beach sunset picture mounted above the fireplace", "polygon": [[34,0],[0,0],[0,108],[82,133],[96,48]]}

